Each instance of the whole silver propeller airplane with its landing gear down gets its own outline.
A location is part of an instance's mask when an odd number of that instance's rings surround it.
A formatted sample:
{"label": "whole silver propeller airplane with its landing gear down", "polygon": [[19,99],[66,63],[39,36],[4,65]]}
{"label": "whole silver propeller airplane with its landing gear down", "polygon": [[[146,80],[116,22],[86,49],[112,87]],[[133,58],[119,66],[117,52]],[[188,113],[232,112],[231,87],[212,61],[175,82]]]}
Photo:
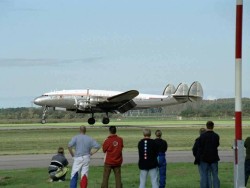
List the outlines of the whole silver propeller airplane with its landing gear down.
{"label": "whole silver propeller airplane with its landing gear down", "polygon": [[137,90],[126,92],[107,90],[61,90],[44,93],[34,99],[34,104],[43,107],[41,123],[46,123],[46,112],[53,110],[74,111],[91,114],[90,125],[95,124],[95,113],[104,113],[103,124],[109,124],[109,113],[125,113],[129,110],[147,109],[176,105],[188,101],[196,102],[203,98],[203,89],[198,81],[188,87],[180,83],[177,88],[168,84],[162,95],[140,94]]}

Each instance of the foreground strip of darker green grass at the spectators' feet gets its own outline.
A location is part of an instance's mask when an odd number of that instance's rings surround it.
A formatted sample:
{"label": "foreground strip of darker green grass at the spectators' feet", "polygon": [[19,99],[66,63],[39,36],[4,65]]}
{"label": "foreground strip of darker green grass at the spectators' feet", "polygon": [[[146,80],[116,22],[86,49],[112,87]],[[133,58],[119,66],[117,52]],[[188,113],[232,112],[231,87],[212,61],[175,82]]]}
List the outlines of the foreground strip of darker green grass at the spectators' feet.
{"label": "foreground strip of darker green grass at the spectators' feet", "polygon": [[[91,166],[89,171],[90,188],[100,188],[102,182],[102,166]],[[47,168],[24,170],[1,170],[0,187],[6,188],[66,188],[69,187],[69,177],[65,182],[47,182]],[[221,188],[233,187],[233,164],[219,163],[219,178]],[[111,174],[109,188],[115,188],[114,175]],[[139,186],[139,169],[136,164],[122,167],[122,183],[124,188]],[[78,183],[79,185],[79,183]],[[147,188],[150,188],[150,178]],[[171,188],[199,188],[199,174],[196,165],[192,163],[169,163],[167,167],[167,187]]]}

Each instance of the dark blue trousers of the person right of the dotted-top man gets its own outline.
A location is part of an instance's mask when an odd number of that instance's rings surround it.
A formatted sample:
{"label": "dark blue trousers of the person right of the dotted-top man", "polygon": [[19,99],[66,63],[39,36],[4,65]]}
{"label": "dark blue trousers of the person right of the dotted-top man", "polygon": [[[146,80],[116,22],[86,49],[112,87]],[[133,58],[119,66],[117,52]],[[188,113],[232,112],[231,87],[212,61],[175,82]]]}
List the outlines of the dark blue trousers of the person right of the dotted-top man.
{"label": "dark blue trousers of the person right of the dotted-top man", "polygon": [[166,186],[166,173],[167,173],[167,161],[165,153],[158,155],[158,169],[159,169],[159,188],[165,188]]}

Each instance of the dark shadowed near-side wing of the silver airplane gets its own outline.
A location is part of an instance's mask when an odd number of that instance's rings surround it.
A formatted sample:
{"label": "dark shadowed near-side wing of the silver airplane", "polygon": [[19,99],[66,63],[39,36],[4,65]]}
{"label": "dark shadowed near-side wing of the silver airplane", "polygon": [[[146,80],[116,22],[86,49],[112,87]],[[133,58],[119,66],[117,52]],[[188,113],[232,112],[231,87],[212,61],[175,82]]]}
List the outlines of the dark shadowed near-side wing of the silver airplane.
{"label": "dark shadowed near-side wing of the silver airplane", "polygon": [[136,106],[133,99],[139,95],[137,90],[130,90],[124,93],[107,98],[106,101],[98,103],[96,106],[104,111],[124,113]]}

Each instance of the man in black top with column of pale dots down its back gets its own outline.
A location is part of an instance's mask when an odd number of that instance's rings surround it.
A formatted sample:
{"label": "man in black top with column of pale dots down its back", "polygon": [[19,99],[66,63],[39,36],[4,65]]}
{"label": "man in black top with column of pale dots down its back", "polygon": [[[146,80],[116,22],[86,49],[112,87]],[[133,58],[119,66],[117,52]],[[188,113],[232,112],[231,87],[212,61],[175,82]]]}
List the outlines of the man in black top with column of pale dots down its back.
{"label": "man in black top with column of pale dots down its back", "polygon": [[153,139],[150,138],[150,129],[143,130],[144,138],[138,143],[139,152],[139,169],[140,169],[140,186],[139,188],[146,187],[146,180],[148,174],[151,177],[152,188],[159,188],[157,182],[157,145]]}

